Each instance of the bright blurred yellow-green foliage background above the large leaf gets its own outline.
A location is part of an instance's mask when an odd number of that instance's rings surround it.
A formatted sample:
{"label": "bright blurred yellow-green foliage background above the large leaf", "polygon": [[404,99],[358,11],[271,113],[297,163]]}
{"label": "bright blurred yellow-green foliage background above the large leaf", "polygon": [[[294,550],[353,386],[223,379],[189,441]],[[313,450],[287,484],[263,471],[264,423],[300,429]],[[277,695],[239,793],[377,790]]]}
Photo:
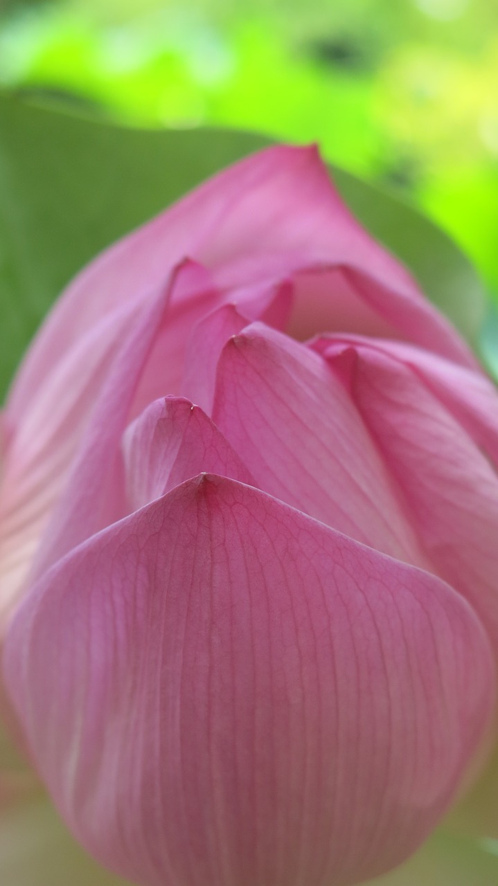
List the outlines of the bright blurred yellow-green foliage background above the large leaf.
{"label": "bright blurred yellow-green foliage background above the large leaf", "polygon": [[438,221],[498,298],[494,0],[4,0],[0,88],[318,141]]}

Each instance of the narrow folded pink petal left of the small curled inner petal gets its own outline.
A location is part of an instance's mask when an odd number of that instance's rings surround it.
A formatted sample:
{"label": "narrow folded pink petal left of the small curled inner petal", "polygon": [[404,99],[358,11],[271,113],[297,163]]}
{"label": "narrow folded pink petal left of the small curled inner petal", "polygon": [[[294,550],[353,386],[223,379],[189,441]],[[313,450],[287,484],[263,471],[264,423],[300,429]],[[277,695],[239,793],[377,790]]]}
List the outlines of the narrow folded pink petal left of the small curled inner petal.
{"label": "narrow folded pink petal left of the small curled inner petal", "polygon": [[[210,304],[213,293],[205,290],[204,281],[202,268],[192,262],[175,268],[166,291],[152,299],[122,343],[99,392],[64,494],[37,551],[32,578],[93,532],[128,512],[121,436],[129,421],[167,390],[171,381],[171,351],[175,353],[175,347],[178,348],[175,336],[184,331],[184,326],[195,323],[206,311],[206,303]],[[192,291],[196,298],[187,299],[186,307],[180,306],[182,294]],[[185,336],[179,338],[182,346]],[[180,352],[180,366],[182,358]],[[181,376],[178,367],[175,372]]]}

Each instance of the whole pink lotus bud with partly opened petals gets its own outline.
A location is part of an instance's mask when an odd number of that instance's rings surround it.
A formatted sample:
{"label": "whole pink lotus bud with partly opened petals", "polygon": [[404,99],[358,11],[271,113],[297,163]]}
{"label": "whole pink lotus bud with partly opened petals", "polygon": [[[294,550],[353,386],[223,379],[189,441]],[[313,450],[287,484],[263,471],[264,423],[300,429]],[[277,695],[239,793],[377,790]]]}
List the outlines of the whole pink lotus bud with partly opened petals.
{"label": "whole pink lotus bud with partly opened petals", "polygon": [[314,149],[74,280],[3,462],[7,715],[90,853],[346,886],[416,850],[494,713],[498,401]]}

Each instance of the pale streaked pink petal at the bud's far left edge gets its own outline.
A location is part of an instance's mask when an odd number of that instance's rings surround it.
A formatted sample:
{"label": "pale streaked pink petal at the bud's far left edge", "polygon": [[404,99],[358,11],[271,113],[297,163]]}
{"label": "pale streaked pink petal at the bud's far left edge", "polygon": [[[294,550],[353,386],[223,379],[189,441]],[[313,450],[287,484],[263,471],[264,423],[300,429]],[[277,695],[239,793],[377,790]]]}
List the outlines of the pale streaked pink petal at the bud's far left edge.
{"label": "pale streaked pink petal at the bud's far left edge", "polygon": [[[61,494],[121,339],[136,311],[106,318],[54,367],[9,439],[0,495],[0,622],[19,597],[40,538]],[[2,628],[0,626],[0,633]]]}

